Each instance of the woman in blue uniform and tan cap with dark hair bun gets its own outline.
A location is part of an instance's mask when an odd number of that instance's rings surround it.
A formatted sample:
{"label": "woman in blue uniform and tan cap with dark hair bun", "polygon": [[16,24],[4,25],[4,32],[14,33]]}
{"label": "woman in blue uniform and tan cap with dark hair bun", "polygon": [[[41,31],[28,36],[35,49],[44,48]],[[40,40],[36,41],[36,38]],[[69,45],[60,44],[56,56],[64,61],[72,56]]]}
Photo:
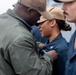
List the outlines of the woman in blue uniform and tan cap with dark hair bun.
{"label": "woman in blue uniform and tan cap with dark hair bun", "polygon": [[40,18],[39,30],[42,37],[48,38],[48,41],[42,49],[39,50],[40,56],[49,50],[55,50],[58,54],[58,59],[53,63],[52,75],[64,75],[67,61],[68,43],[63,38],[61,30],[71,30],[71,27],[64,21],[63,10],[58,7],[49,8],[48,10],[55,19],[49,21],[45,18]]}

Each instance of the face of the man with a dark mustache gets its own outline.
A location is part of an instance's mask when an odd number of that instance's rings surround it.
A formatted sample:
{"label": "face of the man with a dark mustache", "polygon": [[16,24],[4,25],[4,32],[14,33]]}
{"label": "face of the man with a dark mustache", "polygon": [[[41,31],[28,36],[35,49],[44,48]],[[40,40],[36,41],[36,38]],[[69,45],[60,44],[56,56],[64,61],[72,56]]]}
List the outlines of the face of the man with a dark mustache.
{"label": "face of the man with a dark mustache", "polygon": [[64,3],[62,9],[66,20],[76,23],[76,1]]}

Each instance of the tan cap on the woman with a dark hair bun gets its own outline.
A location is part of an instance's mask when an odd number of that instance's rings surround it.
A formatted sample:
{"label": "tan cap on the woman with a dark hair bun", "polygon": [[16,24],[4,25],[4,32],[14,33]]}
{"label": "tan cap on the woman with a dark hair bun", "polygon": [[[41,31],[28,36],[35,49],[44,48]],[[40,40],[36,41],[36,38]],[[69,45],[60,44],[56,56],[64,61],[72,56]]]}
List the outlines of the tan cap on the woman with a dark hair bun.
{"label": "tan cap on the woman with a dark hair bun", "polygon": [[[54,19],[65,20],[63,10],[61,8],[52,7],[52,8],[48,8],[47,10],[50,12],[50,14],[52,14],[54,16]],[[41,23],[46,20],[50,20],[50,19],[47,19],[47,18],[44,18],[43,16],[41,16],[40,20],[38,20],[37,23]]]}

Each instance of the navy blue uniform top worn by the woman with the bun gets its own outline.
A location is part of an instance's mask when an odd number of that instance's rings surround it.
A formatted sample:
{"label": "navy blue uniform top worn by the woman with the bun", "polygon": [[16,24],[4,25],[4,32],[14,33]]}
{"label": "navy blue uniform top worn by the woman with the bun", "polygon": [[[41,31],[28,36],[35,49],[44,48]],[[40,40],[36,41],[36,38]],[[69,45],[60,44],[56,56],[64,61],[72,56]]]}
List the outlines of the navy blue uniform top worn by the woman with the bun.
{"label": "navy blue uniform top worn by the woman with the bun", "polygon": [[39,53],[43,55],[45,51],[48,52],[49,50],[56,50],[58,54],[58,59],[54,62],[53,66],[53,75],[63,75],[67,61],[68,44],[61,33],[53,41],[47,41],[46,46]]}

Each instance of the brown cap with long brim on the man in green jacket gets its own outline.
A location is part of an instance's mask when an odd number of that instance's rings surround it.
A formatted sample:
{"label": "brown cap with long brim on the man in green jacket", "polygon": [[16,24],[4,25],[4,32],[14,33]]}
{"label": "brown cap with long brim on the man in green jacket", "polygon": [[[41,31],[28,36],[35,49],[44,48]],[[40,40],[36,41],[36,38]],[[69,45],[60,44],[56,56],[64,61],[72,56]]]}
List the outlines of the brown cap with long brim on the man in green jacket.
{"label": "brown cap with long brim on the man in green jacket", "polygon": [[[19,3],[38,11],[47,19],[53,19],[48,11],[46,11],[46,0],[18,0]],[[15,4],[13,5],[15,7]]]}

